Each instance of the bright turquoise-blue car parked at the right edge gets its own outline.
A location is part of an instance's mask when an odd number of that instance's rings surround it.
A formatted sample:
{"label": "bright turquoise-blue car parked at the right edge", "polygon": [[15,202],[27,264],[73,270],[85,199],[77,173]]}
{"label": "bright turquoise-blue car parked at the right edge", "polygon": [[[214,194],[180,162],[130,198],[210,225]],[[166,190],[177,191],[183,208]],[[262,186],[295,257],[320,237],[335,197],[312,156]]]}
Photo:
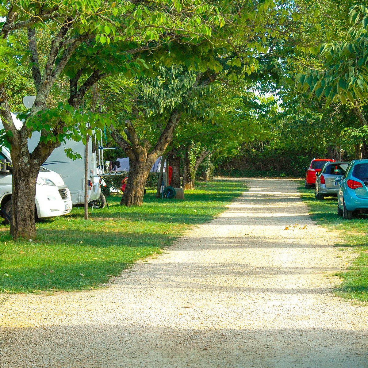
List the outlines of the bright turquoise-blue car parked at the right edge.
{"label": "bright turquoise-blue car parked at the right edge", "polygon": [[344,177],[336,177],[337,215],[351,220],[354,213],[368,213],[368,160],[351,161]]}

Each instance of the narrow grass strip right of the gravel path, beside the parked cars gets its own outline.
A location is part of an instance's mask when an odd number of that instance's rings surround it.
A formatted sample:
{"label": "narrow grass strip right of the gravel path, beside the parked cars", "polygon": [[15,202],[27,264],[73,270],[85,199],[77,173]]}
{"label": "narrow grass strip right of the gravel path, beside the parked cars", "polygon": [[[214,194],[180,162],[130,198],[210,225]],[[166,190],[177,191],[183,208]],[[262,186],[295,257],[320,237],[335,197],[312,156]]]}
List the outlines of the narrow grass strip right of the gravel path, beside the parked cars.
{"label": "narrow grass strip right of the gravel path, beside the parked cars", "polygon": [[368,217],[360,215],[353,220],[344,220],[337,215],[337,198],[317,201],[314,190],[306,190],[304,185],[299,190],[309,206],[312,219],[330,230],[340,231],[343,243],[336,246],[341,250],[353,247],[359,254],[347,272],[336,274],[343,279],[336,293],[344,298],[368,301]]}

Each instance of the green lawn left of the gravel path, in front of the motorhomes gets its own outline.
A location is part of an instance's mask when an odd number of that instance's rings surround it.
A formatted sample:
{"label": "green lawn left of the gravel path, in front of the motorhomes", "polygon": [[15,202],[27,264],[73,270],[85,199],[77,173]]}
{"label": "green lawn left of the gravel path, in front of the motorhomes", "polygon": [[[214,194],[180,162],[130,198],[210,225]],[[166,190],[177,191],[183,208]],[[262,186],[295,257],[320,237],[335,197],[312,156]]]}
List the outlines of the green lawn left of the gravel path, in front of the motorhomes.
{"label": "green lawn left of the gravel path, in front of the motorhomes", "polygon": [[37,224],[37,240],[11,241],[8,227],[0,233],[4,248],[0,291],[29,293],[92,289],[137,259],[161,252],[184,230],[208,222],[245,190],[241,181],[214,180],[185,191],[185,200],[155,198],[126,208],[120,196],[108,198],[109,209],[73,208],[67,216]]}

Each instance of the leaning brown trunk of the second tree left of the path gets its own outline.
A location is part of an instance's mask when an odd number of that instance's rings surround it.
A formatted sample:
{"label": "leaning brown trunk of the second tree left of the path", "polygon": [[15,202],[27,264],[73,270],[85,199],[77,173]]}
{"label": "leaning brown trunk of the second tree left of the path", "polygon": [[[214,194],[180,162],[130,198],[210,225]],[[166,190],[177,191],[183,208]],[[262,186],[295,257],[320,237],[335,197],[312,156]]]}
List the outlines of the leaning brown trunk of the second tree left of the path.
{"label": "leaning brown trunk of the second tree left of the path", "polygon": [[139,159],[129,159],[129,175],[120,204],[127,207],[140,206],[143,203],[144,188],[149,171],[155,162],[151,156],[144,155]]}

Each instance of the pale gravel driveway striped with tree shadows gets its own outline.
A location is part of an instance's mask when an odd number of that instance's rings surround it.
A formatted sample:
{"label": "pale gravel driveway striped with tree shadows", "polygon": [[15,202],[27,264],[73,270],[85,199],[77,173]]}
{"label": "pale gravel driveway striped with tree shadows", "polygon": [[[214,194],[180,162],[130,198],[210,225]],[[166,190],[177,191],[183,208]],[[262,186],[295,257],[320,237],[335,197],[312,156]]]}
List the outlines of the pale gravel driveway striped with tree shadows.
{"label": "pale gravel driveway striped with tree shadows", "polygon": [[12,296],[0,367],[368,367],[368,307],[333,296],[327,276],[348,253],[311,222],[293,181],[248,184],[106,289]]}

